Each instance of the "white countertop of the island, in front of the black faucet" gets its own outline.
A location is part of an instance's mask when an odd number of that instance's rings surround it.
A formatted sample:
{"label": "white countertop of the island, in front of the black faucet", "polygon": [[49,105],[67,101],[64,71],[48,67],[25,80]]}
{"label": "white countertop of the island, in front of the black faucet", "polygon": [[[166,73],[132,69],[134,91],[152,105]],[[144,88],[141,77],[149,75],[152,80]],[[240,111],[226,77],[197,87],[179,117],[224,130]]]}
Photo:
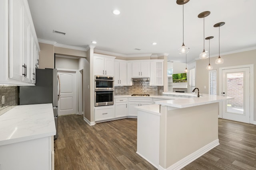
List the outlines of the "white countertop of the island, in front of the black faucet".
{"label": "white countertop of the island, in front of the black faucet", "polygon": [[176,100],[156,101],[156,104],[177,107],[177,108],[185,108],[185,107],[192,107],[192,106],[199,106],[199,105],[204,105],[204,104],[222,102],[222,101],[231,100],[231,99],[234,99],[234,98],[202,94],[202,97],[199,97],[199,98],[179,98]]}

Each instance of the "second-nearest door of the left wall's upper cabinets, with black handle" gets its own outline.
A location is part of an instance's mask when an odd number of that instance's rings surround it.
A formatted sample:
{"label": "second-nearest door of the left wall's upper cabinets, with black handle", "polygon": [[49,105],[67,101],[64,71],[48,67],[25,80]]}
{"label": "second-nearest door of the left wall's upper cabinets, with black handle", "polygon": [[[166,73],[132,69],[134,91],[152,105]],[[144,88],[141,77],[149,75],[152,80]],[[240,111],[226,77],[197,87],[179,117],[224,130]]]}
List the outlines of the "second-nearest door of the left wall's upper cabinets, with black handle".
{"label": "second-nearest door of the left wall's upper cabinets, with black handle", "polygon": [[23,60],[22,65],[24,68],[23,81],[30,82],[30,24],[28,21],[28,16],[23,10]]}

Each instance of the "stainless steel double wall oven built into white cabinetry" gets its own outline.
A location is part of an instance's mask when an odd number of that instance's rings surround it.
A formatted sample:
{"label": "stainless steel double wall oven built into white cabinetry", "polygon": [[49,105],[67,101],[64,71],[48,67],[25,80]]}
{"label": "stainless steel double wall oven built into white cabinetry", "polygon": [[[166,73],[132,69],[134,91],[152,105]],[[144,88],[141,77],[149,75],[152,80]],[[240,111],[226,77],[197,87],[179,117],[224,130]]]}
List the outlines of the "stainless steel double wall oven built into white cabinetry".
{"label": "stainless steel double wall oven built into white cabinetry", "polygon": [[114,77],[95,76],[94,106],[114,105]]}

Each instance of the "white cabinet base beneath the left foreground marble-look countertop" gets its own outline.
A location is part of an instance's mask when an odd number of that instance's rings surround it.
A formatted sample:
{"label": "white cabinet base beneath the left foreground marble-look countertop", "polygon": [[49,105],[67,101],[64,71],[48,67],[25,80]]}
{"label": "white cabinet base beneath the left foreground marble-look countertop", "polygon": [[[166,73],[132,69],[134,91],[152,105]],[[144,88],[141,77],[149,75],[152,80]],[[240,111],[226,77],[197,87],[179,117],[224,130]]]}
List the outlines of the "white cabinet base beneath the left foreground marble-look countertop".
{"label": "white cabinet base beneath the left foreground marble-look countertop", "polygon": [[53,170],[53,136],[0,146],[1,170]]}

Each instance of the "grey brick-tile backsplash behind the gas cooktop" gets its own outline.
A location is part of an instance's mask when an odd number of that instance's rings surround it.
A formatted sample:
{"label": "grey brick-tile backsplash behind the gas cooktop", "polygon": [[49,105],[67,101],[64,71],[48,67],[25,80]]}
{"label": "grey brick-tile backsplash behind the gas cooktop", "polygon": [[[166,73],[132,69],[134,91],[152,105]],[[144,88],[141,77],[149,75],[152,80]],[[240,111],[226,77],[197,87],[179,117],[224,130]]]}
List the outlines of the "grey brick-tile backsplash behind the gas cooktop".
{"label": "grey brick-tile backsplash behind the gas cooktop", "polygon": [[132,82],[132,86],[115,86],[115,95],[149,94],[158,96],[162,94],[163,90],[164,86],[150,86],[149,82]]}

